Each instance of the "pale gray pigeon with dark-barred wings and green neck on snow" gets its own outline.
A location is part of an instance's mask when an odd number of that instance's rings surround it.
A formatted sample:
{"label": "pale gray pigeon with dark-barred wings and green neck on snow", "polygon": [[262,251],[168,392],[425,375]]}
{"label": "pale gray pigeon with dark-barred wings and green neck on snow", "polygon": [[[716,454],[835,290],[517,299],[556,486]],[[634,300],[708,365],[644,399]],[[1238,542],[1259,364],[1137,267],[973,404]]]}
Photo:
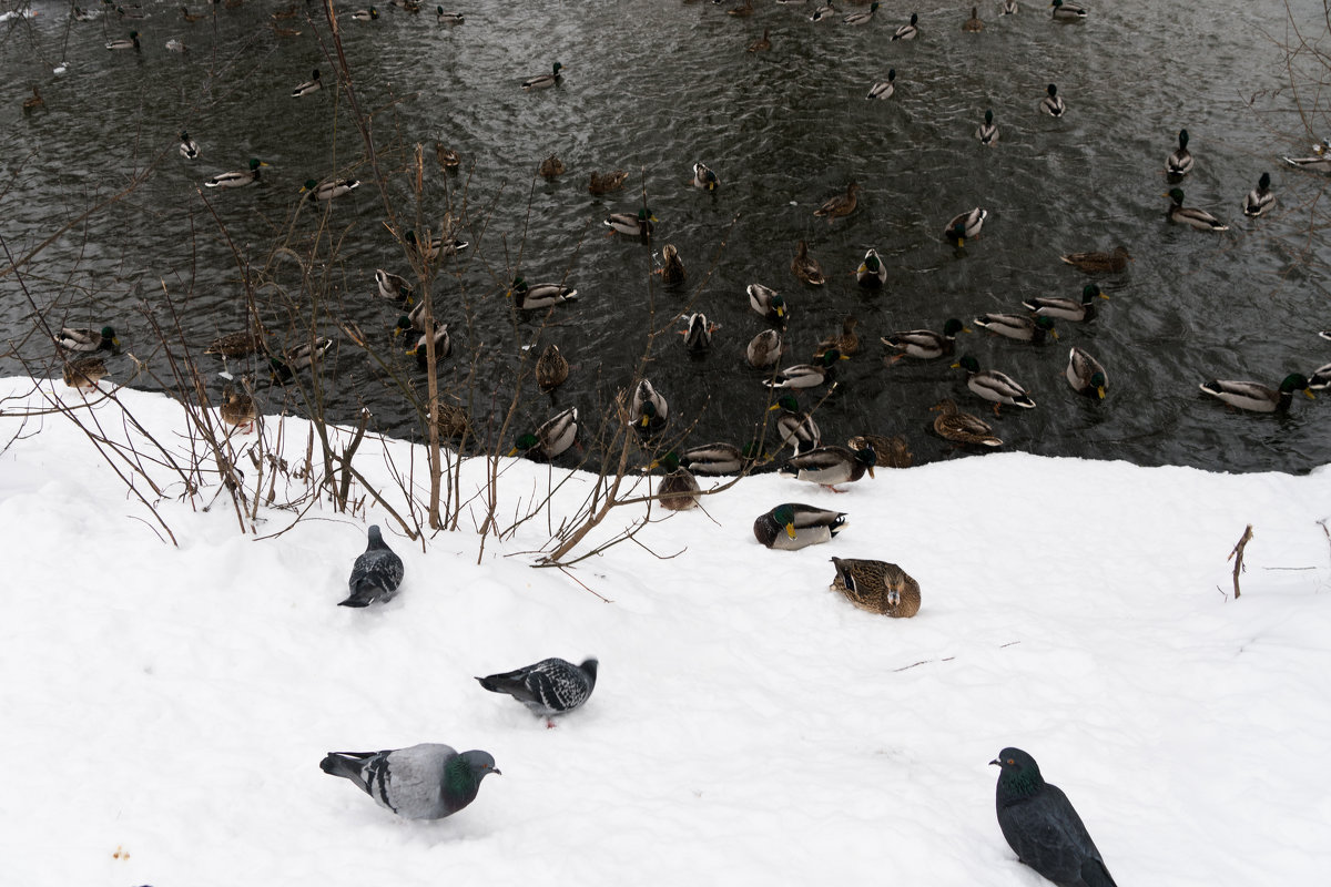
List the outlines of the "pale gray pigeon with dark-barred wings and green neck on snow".
{"label": "pale gray pigeon with dark-barred wings and green neck on snow", "polygon": [[471,803],[480,781],[499,773],[488,751],[422,742],[394,751],[329,751],[319,769],[350,779],[403,819],[443,819]]}

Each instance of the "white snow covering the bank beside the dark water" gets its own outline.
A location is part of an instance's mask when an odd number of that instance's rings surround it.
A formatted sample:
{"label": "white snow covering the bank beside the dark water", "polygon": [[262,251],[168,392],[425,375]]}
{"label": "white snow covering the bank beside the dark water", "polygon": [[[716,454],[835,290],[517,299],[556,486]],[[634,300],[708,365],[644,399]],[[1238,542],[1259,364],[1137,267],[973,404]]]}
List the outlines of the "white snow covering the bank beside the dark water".
{"label": "white snow covering the bank beside the dark water", "polygon": [[[532,568],[543,515],[482,551],[475,505],[422,547],[382,509],[325,501],[294,527],[261,508],[256,539],[225,495],[202,509],[216,479],[190,499],[152,465],[162,493],[136,485],[164,544],[75,423],[21,418],[81,396],[33,387],[0,380],[8,883],[1036,887],[994,819],[986,765],[1008,745],[1069,794],[1121,884],[1312,884],[1331,863],[1326,468],[994,453],[844,495],[756,476],[563,572]],[[188,459],[177,402],[116,396]],[[114,403],[92,415],[128,434]],[[297,464],[305,424],[282,424]],[[423,488],[406,443],[357,456],[391,488],[390,461]],[[503,465],[504,519],[562,479]],[[483,476],[469,461],[463,489]],[[590,483],[560,489],[556,527]],[[752,521],[781,501],[849,525],[767,551]],[[349,610],[367,523],[406,580]],[[898,563],[920,614],[851,606],[832,555]],[[473,677],[548,656],[600,658],[555,729]],[[449,819],[406,822],[318,767],[417,742],[484,749],[503,775]]]}

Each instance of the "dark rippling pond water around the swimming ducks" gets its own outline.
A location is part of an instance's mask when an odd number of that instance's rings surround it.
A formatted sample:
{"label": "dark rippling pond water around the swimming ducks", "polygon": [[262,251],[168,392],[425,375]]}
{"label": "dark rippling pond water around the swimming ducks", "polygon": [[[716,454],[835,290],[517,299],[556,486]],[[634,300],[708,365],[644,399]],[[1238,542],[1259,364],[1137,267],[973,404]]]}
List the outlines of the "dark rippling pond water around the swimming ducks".
{"label": "dark rippling pond water around the swimming ducks", "polygon": [[[520,344],[536,340],[544,320],[515,317],[504,298],[520,271],[530,281],[567,275],[580,298],[555,309],[539,336],[560,346],[574,374],[554,399],[527,379],[519,424],[567,404],[584,422],[599,415],[634,379],[648,331],[692,306],[721,324],[713,350],[695,359],[679,336],[663,335],[647,375],[669,399],[673,431],[696,423],[688,443],[748,440],[768,403],[763,375],[744,362],[745,343],[764,327],[744,295],[757,281],[792,305],[797,360],[843,315],[860,319],[862,351],[841,364],[841,386],[817,411],[824,438],[900,434],[926,461],[953,452],[928,430],[929,406],[944,396],[973,412],[988,404],[948,362],[884,367],[878,336],[1020,311],[1033,295],[1075,297],[1087,278],[1058,254],[1123,243],[1135,262],[1098,278],[1110,301],[1095,320],[1061,323],[1061,339],[1042,347],[973,324],[962,336],[958,351],[1013,375],[1040,403],[996,419],[997,434],[1028,452],[1139,464],[1303,471],[1331,459],[1328,398],[1260,416],[1198,391],[1215,376],[1274,386],[1331,362],[1331,343],[1316,336],[1331,327],[1320,203],[1328,180],[1279,161],[1307,154],[1331,125],[1311,88],[1290,89],[1280,44],[1295,36],[1283,4],[1099,3],[1086,23],[1058,25],[1044,4],[1000,19],[986,3],[981,35],[960,31],[969,3],[884,3],[866,28],[811,24],[804,7],[763,0],[747,20],[675,0],[458,0],[445,5],[467,21],[453,28],[387,4],[363,24],[346,7],[342,41],[359,108],[371,116],[382,194],[346,94],[327,88],[337,66],[317,5],[313,21],[302,13],[281,23],[302,31],[289,39],[266,27],[286,3],[218,7],[213,19],[214,7],[196,0],[192,11],[209,17],[194,24],[174,3],[144,5],[150,17],[134,23],[73,23],[53,3],[33,3],[36,19],[0,23],[4,246],[23,257],[69,225],[21,275],[0,278],[0,328],[15,343],[0,372],[52,372],[51,348],[33,331],[40,315],[53,327],[113,324],[153,374],[134,387],[169,388],[172,364],[152,318],[168,330],[178,323],[220,391],[221,364],[202,346],[245,327],[248,281],[278,344],[307,338],[311,318],[337,338],[322,374],[334,416],[363,403],[378,430],[419,436],[403,386],[423,395],[423,372],[389,335],[398,311],[373,297],[375,267],[407,271],[385,226],[387,199],[402,227],[438,230],[451,207],[473,243],[443,265],[434,290],[454,340],[443,383],[482,426],[504,412]],[[1307,36],[1324,33],[1322,4],[1291,7]],[[921,40],[892,43],[912,11]],[[764,27],[772,51],[744,52]],[[141,53],[104,49],[130,29],[142,35]],[[190,52],[165,51],[169,39]],[[566,68],[560,88],[519,89],[555,60]],[[68,70],[55,76],[60,61]],[[315,66],[327,86],[290,98]],[[897,96],[865,101],[888,68]],[[1037,113],[1047,82],[1067,101],[1062,120]],[[47,108],[25,114],[32,84]],[[985,108],[1002,130],[993,149],[972,136]],[[1227,221],[1226,234],[1165,221],[1163,161],[1181,126],[1197,157],[1182,185],[1187,202]],[[181,128],[201,144],[200,160],[177,156]],[[462,154],[459,173],[439,170],[435,141]],[[417,142],[427,160],[419,206],[406,172]],[[535,178],[552,152],[568,172]],[[198,188],[250,157],[272,165],[262,185]],[[720,176],[715,194],[688,185],[699,160]],[[590,172],[614,168],[631,173],[628,186],[590,195]],[[1262,172],[1272,176],[1276,207],[1244,219],[1240,201]],[[326,213],[298,199],[306,178],[334,173],[363,185]],[[88,211],[136,177],[137,188]],[[832,225],[813,218],[849,180],[862,186],[860,209]],[[606,238],[606,214],[636,210],[644,190],[659,219],[654,243]],[[942,239],[944,222],[977,205],[990,211],[984,235],[958,251]],[[791,275],[800,238],[823,262],[825,287]],[[688,266],[679,287],[650,274],[664,243]],[[853,278],[869,246],[889,267],[876,294]],[[347,323],[382,360],[339,331]],[[1106,364],[1103,403],[1062,380],[1071,344]],[[110,367],[117,380],[133,375],[125,356]],[[281,388],[260,394],[265,411],[301,408]],[[821,394],[801,400],[812,406]]]}

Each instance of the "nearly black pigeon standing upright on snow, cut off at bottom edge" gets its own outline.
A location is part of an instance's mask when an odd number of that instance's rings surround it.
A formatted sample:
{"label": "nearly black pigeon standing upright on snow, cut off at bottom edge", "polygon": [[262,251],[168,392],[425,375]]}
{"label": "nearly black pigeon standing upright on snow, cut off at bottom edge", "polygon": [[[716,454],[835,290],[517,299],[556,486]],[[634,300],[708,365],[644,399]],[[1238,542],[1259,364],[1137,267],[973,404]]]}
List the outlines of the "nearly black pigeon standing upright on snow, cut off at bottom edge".
{"label": "nearly black pigeon standing upright on snow, cut off at bottom edge", "polygon": [[1059,887],[1117,887],[1095,842],[1058,786],[1021,749],[998,753],[998,827],[1017,859]]}

